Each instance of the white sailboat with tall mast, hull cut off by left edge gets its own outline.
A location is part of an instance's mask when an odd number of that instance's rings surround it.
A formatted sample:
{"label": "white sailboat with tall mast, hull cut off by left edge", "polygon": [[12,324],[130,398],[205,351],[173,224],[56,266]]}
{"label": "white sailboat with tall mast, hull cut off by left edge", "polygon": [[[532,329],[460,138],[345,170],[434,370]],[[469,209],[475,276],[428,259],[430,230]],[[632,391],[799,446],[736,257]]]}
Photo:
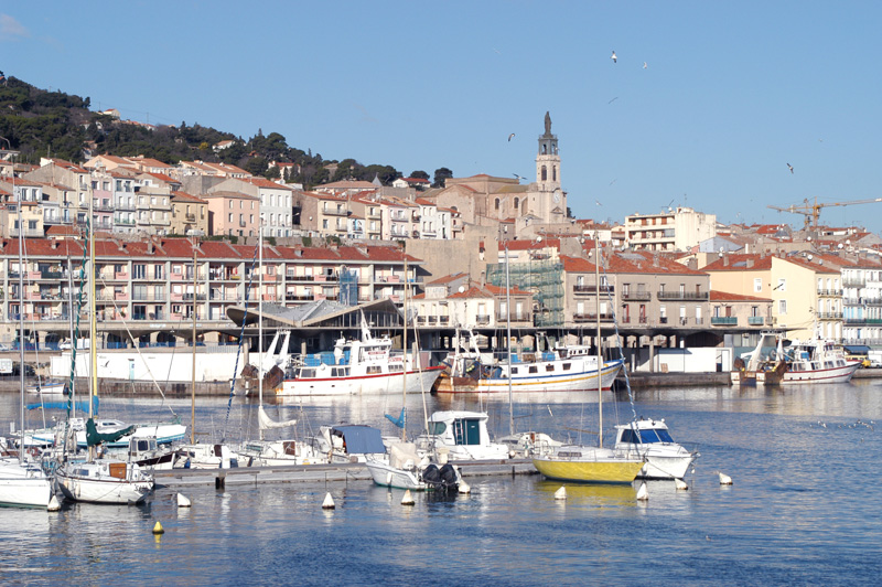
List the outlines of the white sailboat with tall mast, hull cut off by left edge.
{"label": "white sailboat with tall mast, hull cut off by left edge", "polygon": [[[9,153],[7,151],[4,154]],[[12,175],[12,191],[15,192],[15,175]],[[20,203],[20,202],[19,202]],[[21,220],[21,205],[18,205],[19,227],[23,226]],[[20,305],[24,303],[23,275],[23,230],[19,230],[19,291]],[[20,429],[24,429],[24,309],[19,307],[19,369],[20,376]],[[35,462],[25,460],[23,442],[19,442],[17,456],[0,457],[0,505],[22,508],[47,508],[50,500],[54,499],[52,480]]]}

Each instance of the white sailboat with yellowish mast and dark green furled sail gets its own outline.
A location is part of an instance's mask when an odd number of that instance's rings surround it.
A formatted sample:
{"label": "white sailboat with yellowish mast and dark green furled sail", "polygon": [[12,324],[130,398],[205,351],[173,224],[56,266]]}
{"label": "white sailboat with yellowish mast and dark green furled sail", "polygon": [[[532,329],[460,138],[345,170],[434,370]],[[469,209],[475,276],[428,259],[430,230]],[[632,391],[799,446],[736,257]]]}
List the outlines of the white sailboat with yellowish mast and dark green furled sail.
{"label": "white sailboat with yellowish mast and dark green furled sail", "polygon": [[[92,360],[92,396],[98,395],[98,345],[95,313],[95,231],[93,228],[93,194],[89,191],[89,357]],[[112,504],[136,504],[153,491],[153,476],[138,465],[114,458],[96,458],[96,447],[112,442],[131,434],[133,427],[111,434],[97,430],[94,420],[94,402],[89,402],[89,418],[86,420],[88,457],[85,461],[68,455],[55,470],[55,481],[64,497],[72,501]],[[73,436],[68,427],[68,436]],[[71,445],[73,438],[68,438]],[[67,445],[67,442],[66,442]]]}

